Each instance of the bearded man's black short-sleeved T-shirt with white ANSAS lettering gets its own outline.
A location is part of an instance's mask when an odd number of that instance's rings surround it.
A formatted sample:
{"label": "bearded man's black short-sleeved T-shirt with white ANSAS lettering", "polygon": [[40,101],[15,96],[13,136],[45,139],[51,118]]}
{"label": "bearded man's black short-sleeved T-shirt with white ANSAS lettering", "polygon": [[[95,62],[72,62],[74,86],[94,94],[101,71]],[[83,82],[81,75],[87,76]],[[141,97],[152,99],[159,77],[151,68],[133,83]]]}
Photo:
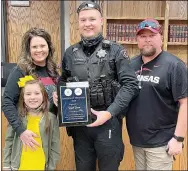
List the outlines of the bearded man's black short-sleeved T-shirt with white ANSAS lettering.
{"label": "bearded man's black short-sleeved T-shirt with white ANSAS lettering", "polygon": [[166,145],[175,131],[178,100],[187,97],[187,68],[165,51],[146,64],[137,56],[131,65],[140,86],[126,118],[131,144],[146,148]]}

